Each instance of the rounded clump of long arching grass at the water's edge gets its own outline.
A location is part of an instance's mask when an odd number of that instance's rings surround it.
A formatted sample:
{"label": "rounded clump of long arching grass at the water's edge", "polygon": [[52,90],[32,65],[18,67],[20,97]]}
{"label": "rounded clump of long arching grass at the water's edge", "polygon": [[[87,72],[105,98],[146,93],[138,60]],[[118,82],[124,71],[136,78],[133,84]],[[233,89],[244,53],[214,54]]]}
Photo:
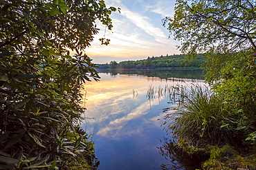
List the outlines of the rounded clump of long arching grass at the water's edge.
{"label": "rounded clump of long arching grass at the water's edge", "polygon": [[[233,140],[232,110],[209,87],[193,83],[179,89],[179,108],[165,116],[167,131],[190,146],[221,145]],[[229,119],[230,118],[230,119]]]}

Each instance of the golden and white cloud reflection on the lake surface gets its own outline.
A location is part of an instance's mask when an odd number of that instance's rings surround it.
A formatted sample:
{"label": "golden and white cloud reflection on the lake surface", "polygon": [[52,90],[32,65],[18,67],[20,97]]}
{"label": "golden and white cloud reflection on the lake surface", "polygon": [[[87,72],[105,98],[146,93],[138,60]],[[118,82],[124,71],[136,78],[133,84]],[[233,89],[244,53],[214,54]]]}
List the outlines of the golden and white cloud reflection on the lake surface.
{"label": "golden and white cloud reflection on the lake surface", "polygon": [[[150,82],[149,82],[150,81]],[[102,81],[91,82],[86,85],[88,100],[85,107],[87,108],[87,117],[95,118],[88,120],[88,123],[95,125],[97,130],[95,133],[99,136],[118,136],[139,133],[140,129],[129,129],[132,123],[141,120],[142,123],[150,123],[159,126],[161,125],[156,120],[163,118],[163,108],[154,110],[156,105],[165,97],[156,98],[155,100],[146,102],[146,94],[149,85],[158,88],[159,85],[165,87],[165,83],[171,85],[182,84],[181,81],[163,81],[148,77],[117,75],[109,81],[108,76],[102,76]],[[138,92],[138,97],[133,98],[133,89]],[[164,99],[166,100],[166,99]],[[152,108],[152,109],[150,109]],[[147,115],[148,114],[148,115]],[[161,114],[160,116],[157,116]],[[154,118],[145,118],[152,117]],[[125,127],[125,128],[124,128]],[[128,130],[127,130],[128,129]]]}

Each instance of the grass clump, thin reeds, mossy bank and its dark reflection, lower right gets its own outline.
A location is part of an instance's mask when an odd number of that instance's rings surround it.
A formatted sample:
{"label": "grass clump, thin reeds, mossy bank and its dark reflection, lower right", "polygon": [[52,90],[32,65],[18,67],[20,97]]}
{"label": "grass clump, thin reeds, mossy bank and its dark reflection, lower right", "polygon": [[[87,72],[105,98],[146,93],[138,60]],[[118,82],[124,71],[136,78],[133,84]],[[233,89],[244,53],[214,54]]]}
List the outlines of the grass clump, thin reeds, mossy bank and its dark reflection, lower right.
{"label": "grass clump, thin reeds, mossy bank and its dark reflection, lower right", "polygon": [[[158,149],[167,160],[178,162],[161,164],[162,169],[256,168],[254,140],[249,129],[239,123],[244,116],[239,115],[241,108],[249,103],[226,103],[224,96],[213,92],[210,86],[195,81],[185,86],[149,87],[147,100],[162,96],[177,105],[163,109],[166,116],[162,126],[168,135]],[[255,122],[255,118],[251,121]]]}

